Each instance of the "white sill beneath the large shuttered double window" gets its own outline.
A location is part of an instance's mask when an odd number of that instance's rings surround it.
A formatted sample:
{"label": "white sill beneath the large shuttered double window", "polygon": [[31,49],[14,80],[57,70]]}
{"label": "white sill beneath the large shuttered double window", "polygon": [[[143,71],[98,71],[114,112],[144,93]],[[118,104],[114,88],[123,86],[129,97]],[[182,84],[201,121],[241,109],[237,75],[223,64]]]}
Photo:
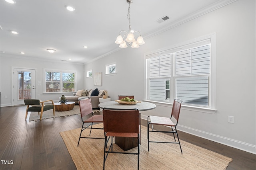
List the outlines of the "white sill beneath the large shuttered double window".
{"label": "white sill beneath the large shuttered double window", "polygon": [[[156,102],[156,101],[152,101],[152,100],[143,100],[143,101],[154,103],[157,106],[172,107],[172,104],[170,104],[170,103]],[[189,111],[197,111],[197,112],[202,112],[202,113],[210,113],[210,114],[215,114],[215,112],[217,111],[216,109],[210,109],[210,108],[205,108],[205,107],[196,107],[196,106],[186,106],[186,105],[182,105],[181,109],[189,110]]]}

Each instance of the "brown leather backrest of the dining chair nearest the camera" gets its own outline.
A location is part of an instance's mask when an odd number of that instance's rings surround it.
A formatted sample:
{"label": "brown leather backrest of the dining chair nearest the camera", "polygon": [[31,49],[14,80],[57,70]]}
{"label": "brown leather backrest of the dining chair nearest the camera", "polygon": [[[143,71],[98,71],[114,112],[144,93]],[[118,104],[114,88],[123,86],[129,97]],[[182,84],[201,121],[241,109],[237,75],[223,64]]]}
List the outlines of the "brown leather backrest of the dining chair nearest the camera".
{"label": "brown leather backrest of the dining chair nearest the camera", "polygon": [[140,133],[140,112],[138,109],[103,109],[104,132]]}

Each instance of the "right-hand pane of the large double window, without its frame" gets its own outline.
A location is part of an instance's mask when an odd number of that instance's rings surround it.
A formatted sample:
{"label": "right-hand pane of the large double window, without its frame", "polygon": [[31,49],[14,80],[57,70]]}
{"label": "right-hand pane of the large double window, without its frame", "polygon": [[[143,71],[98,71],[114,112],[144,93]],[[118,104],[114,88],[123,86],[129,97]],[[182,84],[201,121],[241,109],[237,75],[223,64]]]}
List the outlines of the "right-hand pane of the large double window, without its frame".
{"label": "right-hand pane of the large double window, without its frame", "polygon": [[174,53],[176,97],[183,104],[209,105],[210,51],[210,45],[203,45]]}

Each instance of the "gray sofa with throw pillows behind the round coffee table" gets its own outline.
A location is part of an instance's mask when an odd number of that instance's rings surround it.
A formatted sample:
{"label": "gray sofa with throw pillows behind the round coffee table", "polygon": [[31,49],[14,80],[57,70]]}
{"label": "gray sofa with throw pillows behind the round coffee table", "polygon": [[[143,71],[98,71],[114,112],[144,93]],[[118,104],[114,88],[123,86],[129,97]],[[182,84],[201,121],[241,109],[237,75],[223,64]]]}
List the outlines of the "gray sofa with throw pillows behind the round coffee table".
{"label": "gray sofa with throw pillows behind the round coffee table", "polygon": [[80,94],[78,94],[78,92],[76,92],[76,93],[73,93],[73,96],[65,96],[65,98],[66,98],[66,100],[68,100],[68,102],[75,102],[76,104],[79,104],[79,100],[90,98],[91,102],[92,102],[92,108],[98,108],[99,107],[98,105],[100,104],[99,98],[103,97],[103,95],[105,94],[105,90],[103,90],[103,92],[101,90],[99,90],[100,96],[90,96],[90,94],[91,94],[90,92],[92,92],[93,90],[88,90],[88,91],[89,92],[86,96],[80,96]]}

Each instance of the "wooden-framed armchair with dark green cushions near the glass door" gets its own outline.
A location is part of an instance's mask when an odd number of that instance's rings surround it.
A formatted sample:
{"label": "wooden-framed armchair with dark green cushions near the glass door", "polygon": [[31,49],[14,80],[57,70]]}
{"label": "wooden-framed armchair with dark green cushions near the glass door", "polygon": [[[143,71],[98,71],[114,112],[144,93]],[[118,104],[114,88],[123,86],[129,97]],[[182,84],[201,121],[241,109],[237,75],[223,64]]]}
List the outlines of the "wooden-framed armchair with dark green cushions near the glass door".
{"label": "wooden-framed armchair with dark green cushions near the glass door", "polygon": [[[45,102],[52,102],[52,104],[45,105]],[[43,112],[46,110],[53,109],[53,115],[55,115],[53,100],[40,101],[38,99],[24,99],[24,103],[27,105],[25,120],[27,119],[29,111],[37,111],[38,115],[40,114],[40,120],[42,119]]]}

